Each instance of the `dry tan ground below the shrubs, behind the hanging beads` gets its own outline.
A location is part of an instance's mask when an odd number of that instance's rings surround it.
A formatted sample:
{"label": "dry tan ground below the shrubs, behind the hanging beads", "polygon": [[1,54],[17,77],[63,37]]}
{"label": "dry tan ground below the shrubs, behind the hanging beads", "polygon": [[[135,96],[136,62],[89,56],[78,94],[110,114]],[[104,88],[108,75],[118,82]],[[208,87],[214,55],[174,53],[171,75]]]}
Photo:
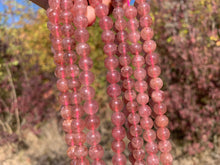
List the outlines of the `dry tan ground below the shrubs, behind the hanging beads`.
{"label": "dry tan ground below the shrubs, behind the hanging beads", "polygon": [[[41,129],[41,135],[24,132],[24,143],[19,145],[6,144],[0,147],[0,165],[67,165],[67,146],[64,142],[62,131],[56,120],[46,123]],[[110,136],[107,136],[110,121],[102,123],[101,133],[104,135],[101,144],[105,144],[104,160],[110,165],[112,151]],[[182,147],[173,143],[173,165],[220,165],[220,138],[214,150],[206,150],[195,156],[183,154]],[[128,153],[125,153],[128,154]],[[130,165],[127,162],[127,165]]]}

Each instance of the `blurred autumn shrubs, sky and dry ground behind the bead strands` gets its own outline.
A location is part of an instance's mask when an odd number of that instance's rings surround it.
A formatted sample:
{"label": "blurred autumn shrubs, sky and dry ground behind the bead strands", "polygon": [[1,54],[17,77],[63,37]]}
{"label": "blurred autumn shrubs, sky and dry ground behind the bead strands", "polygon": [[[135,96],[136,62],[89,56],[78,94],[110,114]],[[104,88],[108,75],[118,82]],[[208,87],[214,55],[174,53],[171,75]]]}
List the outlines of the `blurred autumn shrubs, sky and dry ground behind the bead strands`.
{"label": "blurred autumn shrubs, sky and dry ground behind the bead strands", "polygon": [[[220,0],[151,0],[174,165],[220,164]],[[111,110],[97,23],[89,27],[99,128],[111,164]],[[66,165],[46,12],[0,2],[0,164]],[[126,153],[127,154],[127,153]]]}

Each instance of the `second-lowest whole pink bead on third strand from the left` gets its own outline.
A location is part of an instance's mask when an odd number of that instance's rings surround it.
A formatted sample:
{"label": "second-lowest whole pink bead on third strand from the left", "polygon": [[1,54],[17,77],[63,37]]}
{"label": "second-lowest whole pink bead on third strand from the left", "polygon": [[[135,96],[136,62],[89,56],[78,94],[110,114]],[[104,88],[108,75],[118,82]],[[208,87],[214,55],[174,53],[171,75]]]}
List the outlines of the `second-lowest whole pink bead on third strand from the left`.
{"label": "second-lowest whole pink bead on third strand from the left", "polygon": [[97,145],[101,141],[101,135],[96,130],[91,130],[87,133],[86,141],[89,145]]}

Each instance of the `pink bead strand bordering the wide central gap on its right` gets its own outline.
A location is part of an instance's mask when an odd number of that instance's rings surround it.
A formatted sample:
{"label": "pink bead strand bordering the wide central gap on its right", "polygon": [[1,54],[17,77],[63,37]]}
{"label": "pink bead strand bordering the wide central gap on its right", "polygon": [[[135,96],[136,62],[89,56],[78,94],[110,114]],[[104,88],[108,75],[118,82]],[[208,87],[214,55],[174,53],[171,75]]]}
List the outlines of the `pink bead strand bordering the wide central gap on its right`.
{"label": "pink bead strand bordering the wide central gap on its right", "polygon": [[125,143],[123,138],[126,136],[126,131],[123,127],[125,122],[124,113],[120,112],[123,108],[123,102],[119,98],[121,95],[121,87],[117,84],[120,81],[120,73],[116,70],[119,66],[118,58],[115,57],[117,46],[114,43],[115,34],[111,31],[113,27],[112,19],[107,16],[109,9],[107,6],[97,1],[95,7],[96,15],[100,18],[99,25],[103,30],[102,40],[105,43],[104,53],[108,56],[105,59],[105,66],[108,69],[106,79],[110,83],[107,87],[107,94],[112,98],[110,101],[110,108],[114,111],[111,117],[112,123],[115,127],[112,130],[112,150],[116,153],[112,158],[114,165],[126,164],[126,157],[122,153],[125,150]]}

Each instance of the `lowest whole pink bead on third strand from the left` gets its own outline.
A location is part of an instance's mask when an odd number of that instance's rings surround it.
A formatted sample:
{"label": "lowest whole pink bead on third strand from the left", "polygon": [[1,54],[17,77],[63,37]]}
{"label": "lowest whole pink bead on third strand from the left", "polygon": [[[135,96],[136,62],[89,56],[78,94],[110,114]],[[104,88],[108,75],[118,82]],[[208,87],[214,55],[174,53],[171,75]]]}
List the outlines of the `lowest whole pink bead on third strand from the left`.
{"label": "lowest whole pink bead on third strand from the left", "polygon": [[104,155],[104,150],[101,145],[91,146],[89,148],[89,156],[91,159],[101,159]]}

